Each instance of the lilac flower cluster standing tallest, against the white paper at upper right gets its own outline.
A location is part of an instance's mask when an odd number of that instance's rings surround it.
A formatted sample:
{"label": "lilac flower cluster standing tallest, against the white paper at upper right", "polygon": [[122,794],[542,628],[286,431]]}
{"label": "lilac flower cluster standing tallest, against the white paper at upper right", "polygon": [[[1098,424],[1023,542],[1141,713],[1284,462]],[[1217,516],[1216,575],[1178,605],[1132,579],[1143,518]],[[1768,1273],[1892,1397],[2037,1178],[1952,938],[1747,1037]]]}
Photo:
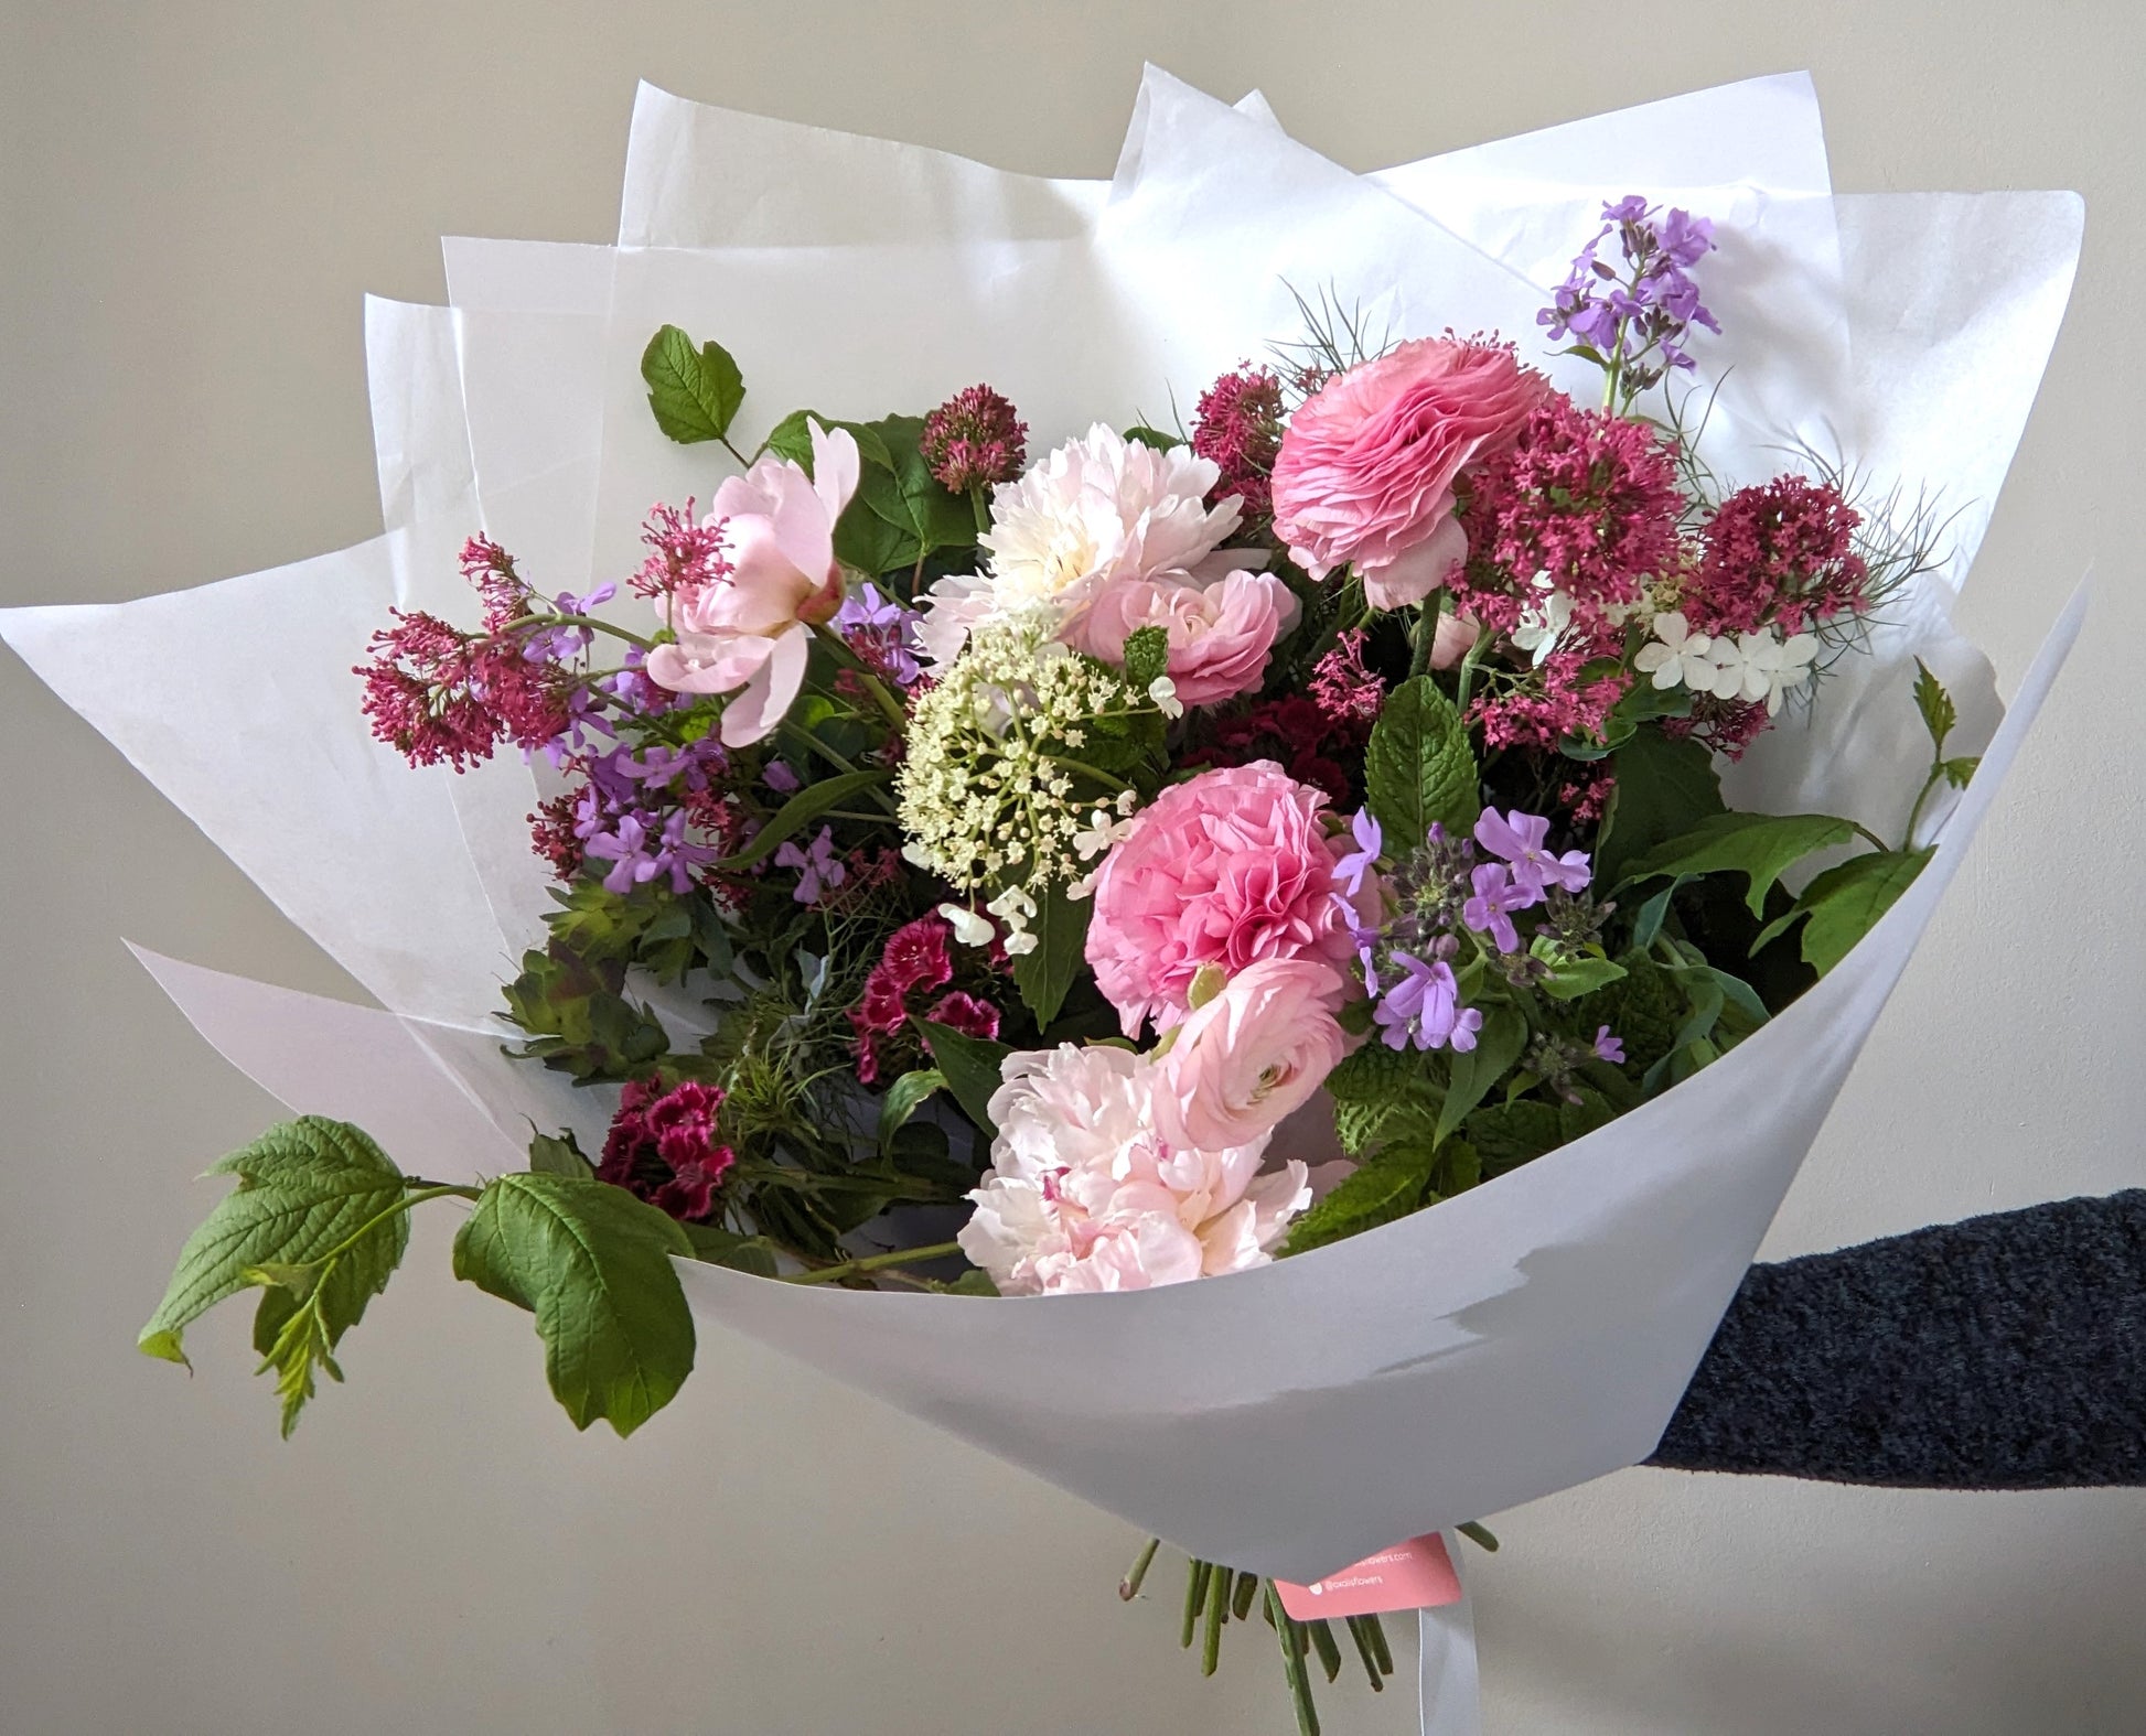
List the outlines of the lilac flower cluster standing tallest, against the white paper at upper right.
{"label": "lilac flower cluster standing tallest, against the white paper at upper right", "polygon": [[[1539,326],[1562,341],[1567,335],[1603,361],[1627,399],[1652,386],[1672,367],[1691,367],[1682,339],[1691,326],[1719,333],[1721,326],[1700,300],[1691,266],[1715,247],[1715,225],[1689,210],[1670,210],[1637,193],[1603,206],[1603,230],[1579,249],[1573,273],[1554,300],[1534,315]],[[1597,251],[1618,238],[1625,270],[1605,264]],[[1659,363],[1655,363],[1659,358]]]}

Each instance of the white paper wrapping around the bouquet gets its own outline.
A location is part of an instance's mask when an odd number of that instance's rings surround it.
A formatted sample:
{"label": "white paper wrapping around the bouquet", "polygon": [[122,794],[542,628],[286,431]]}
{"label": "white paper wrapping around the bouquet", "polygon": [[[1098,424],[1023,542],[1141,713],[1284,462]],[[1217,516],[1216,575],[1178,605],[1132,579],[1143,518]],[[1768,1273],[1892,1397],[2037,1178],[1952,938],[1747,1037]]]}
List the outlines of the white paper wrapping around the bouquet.
{"label": "white paper wrapping around the bouquet", "polygon": [[1762,481],[1805,444],[1959,509],[1942,577],[1732,779],[1738,805],[1897,830],[1927,764],[1906,678],[1929,659],[1961,697],[1955,751],[1987,751],[1899,906],[1672,1094],[1253,1272],[1006,1303],[680,1266],[706,1322],[1193,1554],[1313,1579],[1661,1436],[2077,633],[2082,599],[2004,715],[1946,620],[2062,318],[2077,200],[1835,197],[1803,77],[1354,176],[1264,103],[1150,73],[1112,182],[644,88],[616,249],[451,240],[451,309],[369,305],[386,536],[174,597],[15,609],[0,633],[382,1002],[144,955],[204,1036],[408,1169],[496,1174],[519,1167],[524,1118],[584,1142],[607,1118],[603,1094],[498,1054],[498,985],[545,908],[521,822],[536,779],[410,773],[367,736],[348,670],[391,603],[461,605],[472,513],[541,586],[582,590],[637,564],[650,500],[708,494],[708,448],[661,440],[642,403],[657,324],[738,356],[749,440],[794,406],[876,416],[987,378],[1041,451],[1099,416],[1189,414],[1215,373],[1296,333],[1290,285],[1401,337],[1498,328],[1528,354],[1534,309],[1629,191],[1719,225],[1702,283],[1725,333],[1695,345],[1721,386],[1719,470]]}

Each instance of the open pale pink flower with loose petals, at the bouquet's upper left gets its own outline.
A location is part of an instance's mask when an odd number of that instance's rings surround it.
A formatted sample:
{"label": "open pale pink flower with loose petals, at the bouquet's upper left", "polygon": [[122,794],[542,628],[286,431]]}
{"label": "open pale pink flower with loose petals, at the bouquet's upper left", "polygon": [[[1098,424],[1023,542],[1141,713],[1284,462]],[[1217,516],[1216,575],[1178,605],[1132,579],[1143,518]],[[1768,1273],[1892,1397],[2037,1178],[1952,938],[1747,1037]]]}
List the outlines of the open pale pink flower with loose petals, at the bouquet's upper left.
{"label": "open pale pink flower with loose petals, at the bouquet's upper left", "polygon": [[674,693],[730,693],[723,745],[775,732],[805,682],[811,624],[841,607],[835,519],[856,494],[856,440],[811,423],[811,476],[768,453],[727,479],[708,506],[727,575],[657,599],[676,644],[648,652],[648,678]]}

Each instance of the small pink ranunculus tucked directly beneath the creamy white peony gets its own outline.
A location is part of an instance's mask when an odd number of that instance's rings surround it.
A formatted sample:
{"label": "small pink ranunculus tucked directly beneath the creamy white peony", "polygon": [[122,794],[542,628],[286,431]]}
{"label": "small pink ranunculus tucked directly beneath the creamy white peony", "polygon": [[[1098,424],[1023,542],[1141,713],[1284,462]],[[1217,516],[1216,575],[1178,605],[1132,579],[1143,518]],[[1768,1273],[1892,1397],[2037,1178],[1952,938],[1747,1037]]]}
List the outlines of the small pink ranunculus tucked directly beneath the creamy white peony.
{"label": "small pink ranunculus tucked directly beneath the creamy white peony", "polygon": [[1122,663],[1133,633],[1161,627],[1170,635],[1178,700],[1212,706],[1251,693],[1266,678],[1266,657],[1296,614],[1296,594],[1273,573],[1228,573],[1206,586],[1165,573],[1103,586],[1064,639],[1105,663]]}

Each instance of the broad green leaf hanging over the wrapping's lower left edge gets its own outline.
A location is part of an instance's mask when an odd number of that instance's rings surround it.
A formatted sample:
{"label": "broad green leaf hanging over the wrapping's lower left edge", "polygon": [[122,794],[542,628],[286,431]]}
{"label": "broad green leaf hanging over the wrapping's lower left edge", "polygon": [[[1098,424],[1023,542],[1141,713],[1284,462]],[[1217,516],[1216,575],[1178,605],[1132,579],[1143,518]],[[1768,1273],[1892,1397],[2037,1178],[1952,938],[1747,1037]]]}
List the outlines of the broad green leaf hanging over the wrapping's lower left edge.
{"label": "broad green leaf hanging over the wrapping's lower left edge", "polygon": [[455,1277],[536,1315],[552,1395],[577,1429],[620,1436],[693,1371],[693,1318],[672,1270],[693,1242],[622,1187],[500,1176],[455,1236]]}

